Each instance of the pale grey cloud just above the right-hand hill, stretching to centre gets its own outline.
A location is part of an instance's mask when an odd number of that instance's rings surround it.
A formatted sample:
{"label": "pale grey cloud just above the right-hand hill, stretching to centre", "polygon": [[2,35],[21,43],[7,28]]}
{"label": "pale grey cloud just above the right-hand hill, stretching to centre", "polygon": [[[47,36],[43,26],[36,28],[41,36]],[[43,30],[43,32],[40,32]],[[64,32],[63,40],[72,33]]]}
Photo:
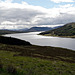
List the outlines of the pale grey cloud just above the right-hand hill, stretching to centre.
{"label": "pale grey cloud just above the right-hand hill, stretching to centre", "polygon": [[40,20],[37,20],[39,25],[57,25],[57,24],[66,24],[70,22],[75,22],[75,15],[73,14],[60,14],[55,18],[45,18],[42,17]]}

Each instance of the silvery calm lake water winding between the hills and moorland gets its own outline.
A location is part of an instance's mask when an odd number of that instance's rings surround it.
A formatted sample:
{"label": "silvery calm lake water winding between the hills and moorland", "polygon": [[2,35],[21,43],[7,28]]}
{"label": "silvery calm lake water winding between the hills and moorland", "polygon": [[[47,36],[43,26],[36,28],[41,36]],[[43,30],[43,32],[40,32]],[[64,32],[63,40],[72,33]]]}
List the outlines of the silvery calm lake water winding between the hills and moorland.
{"label": "silvery calm lake water winding between the hills and moorland", "polygon": [[74,38],[41,36],[41,35],[37,35],[38,33],[40,32],[8,34],[5,36],[9,36],[9,37],[11,36],[11,37],[19,38],[22,40],[26,40],[34,45],[62,47],[62,48],[75,50],[75,39]]}

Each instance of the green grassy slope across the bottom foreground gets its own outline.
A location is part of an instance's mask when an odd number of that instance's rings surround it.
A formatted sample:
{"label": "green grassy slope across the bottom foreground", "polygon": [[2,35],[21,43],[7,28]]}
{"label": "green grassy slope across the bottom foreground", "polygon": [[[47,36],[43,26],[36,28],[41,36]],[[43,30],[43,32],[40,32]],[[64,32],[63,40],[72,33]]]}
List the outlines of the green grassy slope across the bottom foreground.
{"label": "green grassy slope across the bottom foreground", "polygon": [[[40,58],[15,56],[15,52],[0,51],[3,71],[0,75],[11,75],[8,65],[16,69],[16,75],[74,75],[75,63],[50,61]],[[18,53],[17,53],[18,54]],[[15,73],[14,73],[15,74]],[[14,75],[13,74],[13,75]]]}

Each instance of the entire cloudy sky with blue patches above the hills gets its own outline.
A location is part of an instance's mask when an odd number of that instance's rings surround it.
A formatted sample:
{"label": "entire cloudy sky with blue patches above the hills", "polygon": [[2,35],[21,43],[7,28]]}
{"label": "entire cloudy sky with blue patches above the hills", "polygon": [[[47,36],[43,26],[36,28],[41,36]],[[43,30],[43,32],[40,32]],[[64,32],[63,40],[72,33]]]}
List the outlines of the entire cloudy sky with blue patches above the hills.
{"label": "entire cloudy sky with blue patches above the hills", "polygon": [[75,22],[75,0],[0,0],[0,29],[54,27]]}

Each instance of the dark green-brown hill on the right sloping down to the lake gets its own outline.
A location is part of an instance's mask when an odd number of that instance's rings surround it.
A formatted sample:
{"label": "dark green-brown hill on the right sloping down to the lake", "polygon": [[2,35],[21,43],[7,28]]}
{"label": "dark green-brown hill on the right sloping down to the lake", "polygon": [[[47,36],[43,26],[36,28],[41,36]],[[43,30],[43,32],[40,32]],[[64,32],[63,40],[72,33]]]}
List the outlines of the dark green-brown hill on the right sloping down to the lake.
{"label": "dark green-brown hill on the right sloping down to the lake", "polygon": [[65,24],[64,26],[40,33],[41,35],[75,37],[75,22]]}

